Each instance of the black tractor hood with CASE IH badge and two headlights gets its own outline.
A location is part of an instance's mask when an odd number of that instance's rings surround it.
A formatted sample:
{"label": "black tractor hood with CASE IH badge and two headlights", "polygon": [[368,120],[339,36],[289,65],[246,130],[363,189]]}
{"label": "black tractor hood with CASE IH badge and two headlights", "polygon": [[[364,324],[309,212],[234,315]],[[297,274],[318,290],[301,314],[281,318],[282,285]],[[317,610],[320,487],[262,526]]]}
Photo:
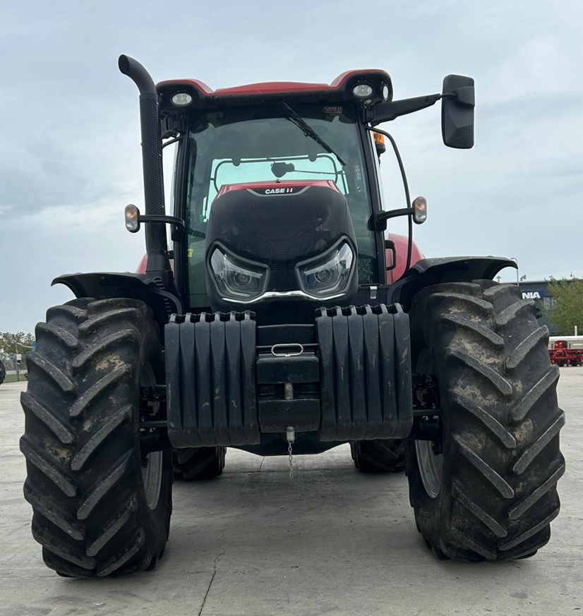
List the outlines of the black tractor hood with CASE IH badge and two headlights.
{"label": "black tractor hood with CASE IH badge and two headlights", "polygon": [[354,229],[332,181],[223,186],[210,208],[205,255],[213,310],[259,312],[279,301],[306,306],[313,319],[315,308],[356,296]]}

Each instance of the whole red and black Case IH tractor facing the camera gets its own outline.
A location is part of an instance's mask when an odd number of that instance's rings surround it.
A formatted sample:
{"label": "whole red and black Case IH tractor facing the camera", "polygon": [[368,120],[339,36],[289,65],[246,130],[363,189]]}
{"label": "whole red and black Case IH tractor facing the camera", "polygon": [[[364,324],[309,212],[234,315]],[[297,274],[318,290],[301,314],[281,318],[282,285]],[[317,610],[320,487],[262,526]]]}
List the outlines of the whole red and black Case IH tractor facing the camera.
{"label": "whole red and black Case IH tractor facing the camera", "polygon": [[[66,274],[21,401],[32,535],[62,576],[152,569],[174,473],[217,476],[224,448],[406,467],[417,529],[440,558],[529,557],[565,472],[559,370],[514,261],[422,258],[395,140],[380,124],[440,101],[443,142],[474,145],[474,80],[393,99],[382,70],[330,84],[155,85],[136,60],[143,272]],[[174,143],[171,213],[162,148]],[[385,207],[392,150],[404,207]],[[406,217],[408,237],[387,236]],[[169,240],[171,244],[169,247]],[[400,449],[404,450],[404,461]],[[174,466],[173,466],[174,458]],[[290,457],[291,461],[291,457]]]}

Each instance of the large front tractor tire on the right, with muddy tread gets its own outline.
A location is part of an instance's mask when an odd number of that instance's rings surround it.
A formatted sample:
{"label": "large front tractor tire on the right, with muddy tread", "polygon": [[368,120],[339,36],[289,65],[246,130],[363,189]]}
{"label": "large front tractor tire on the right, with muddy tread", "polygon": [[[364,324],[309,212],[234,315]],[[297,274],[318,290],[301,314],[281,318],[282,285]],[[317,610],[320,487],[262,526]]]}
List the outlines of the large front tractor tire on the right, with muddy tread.
{"label": "large front tractor tire on the right, with muddy tread", "polygon": [[437,284],[409,313],[414,366],[437,375],[441,437],[405,445],[416,524],[440,558],[512,560],[545,545],[565,472],[559,369],[518,286]]}

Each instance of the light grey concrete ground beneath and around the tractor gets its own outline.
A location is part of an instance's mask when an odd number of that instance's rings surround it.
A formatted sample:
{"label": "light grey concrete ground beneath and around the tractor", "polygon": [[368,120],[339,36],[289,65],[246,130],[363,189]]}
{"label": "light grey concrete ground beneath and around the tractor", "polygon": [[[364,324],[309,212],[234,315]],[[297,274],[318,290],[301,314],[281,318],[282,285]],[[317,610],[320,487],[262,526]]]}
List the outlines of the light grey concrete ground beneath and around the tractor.
{"label": "light grey concrete ground beneath and around the tractor", "polygon": [[404,476],[366,476],[349,447],[296,459],[229,449],[223,476],[174,484],[157,569],[64,579],[42,563],[22,495],[23,384],[0,387],[0,615],[567,615],[583,610],[583,368],[561,368],[563,509],[530,560],[439,561],[415,529]]}

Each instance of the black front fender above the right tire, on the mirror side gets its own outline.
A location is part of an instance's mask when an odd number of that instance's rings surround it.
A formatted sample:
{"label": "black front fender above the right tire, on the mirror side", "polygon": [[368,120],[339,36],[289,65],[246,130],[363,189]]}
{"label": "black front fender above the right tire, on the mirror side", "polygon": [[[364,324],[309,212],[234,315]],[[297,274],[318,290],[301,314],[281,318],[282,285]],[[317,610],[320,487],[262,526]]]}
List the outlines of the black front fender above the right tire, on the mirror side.
{"label": "black front fender above the right tire, on the mirror side", "polygon": [[421,259],[407,274],[390,286],[387,304],[400,303],[408,312],[413,297],[426,286],[440,282],[468,282],[476,279],[492,280],[505,267],[517,264],[504,257],[443,257]]}

